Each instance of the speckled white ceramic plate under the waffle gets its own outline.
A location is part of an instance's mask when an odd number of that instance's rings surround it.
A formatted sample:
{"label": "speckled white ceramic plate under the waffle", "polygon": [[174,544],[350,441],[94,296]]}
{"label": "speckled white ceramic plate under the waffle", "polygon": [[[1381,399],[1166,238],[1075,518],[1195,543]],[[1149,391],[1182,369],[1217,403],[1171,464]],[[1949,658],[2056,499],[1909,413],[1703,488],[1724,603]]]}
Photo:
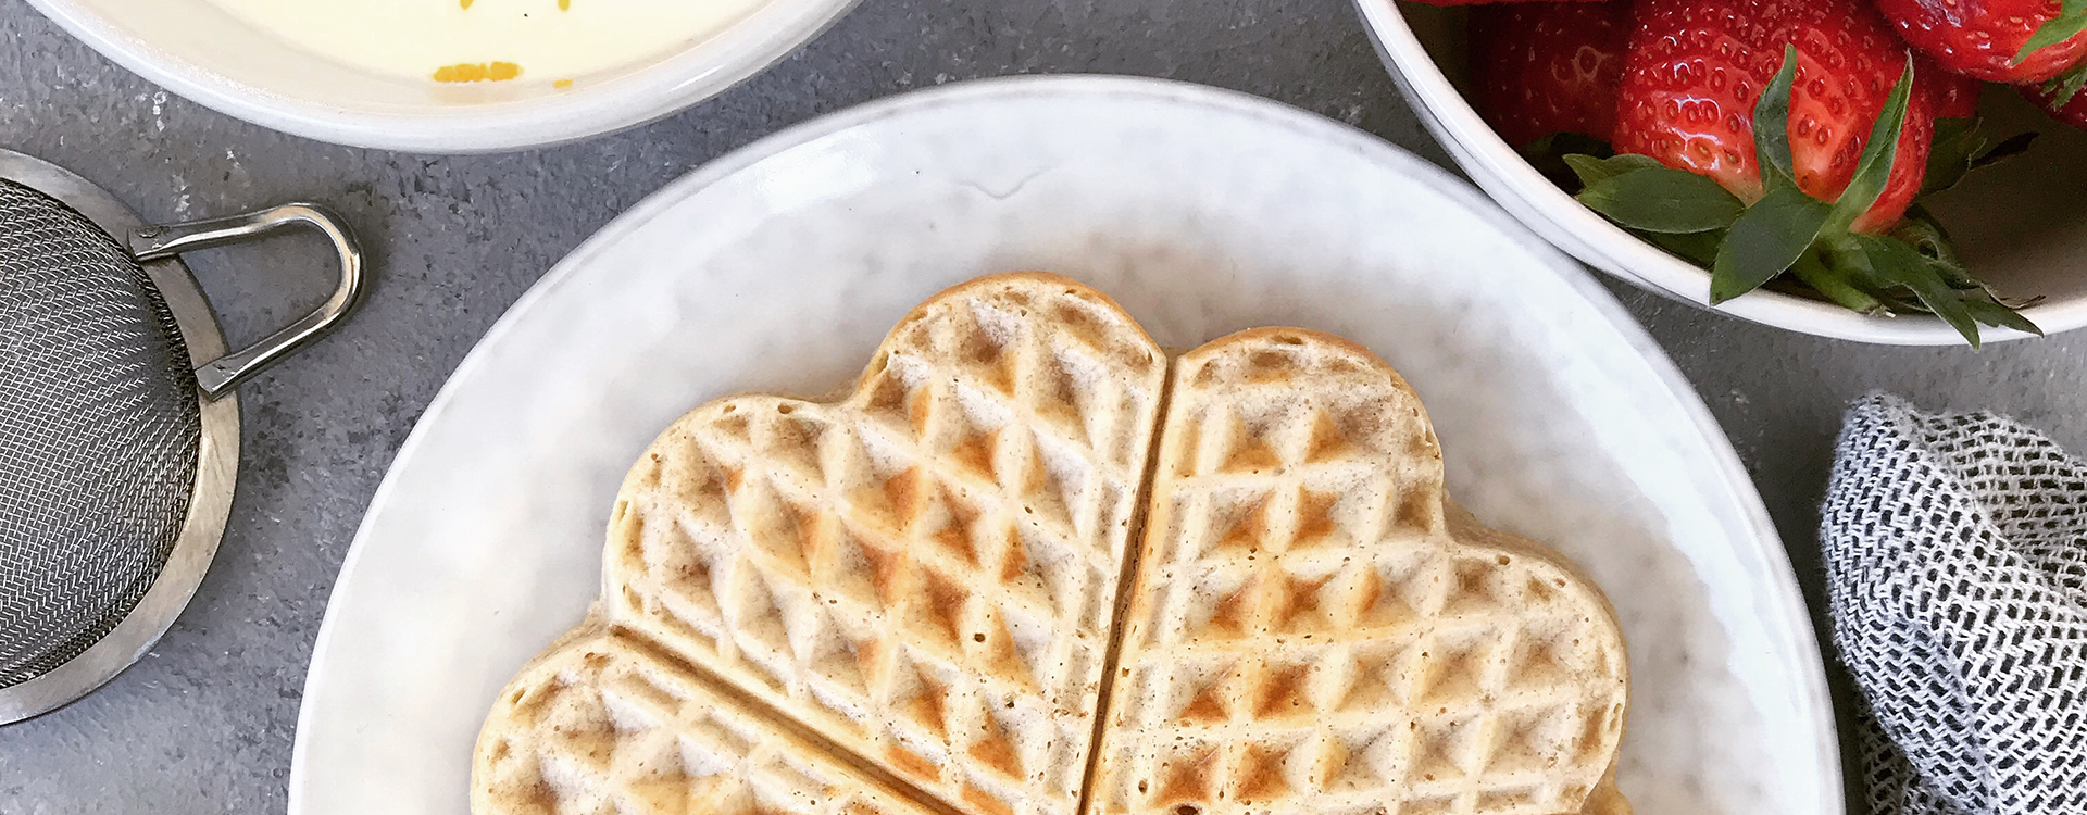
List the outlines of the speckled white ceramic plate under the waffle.
{"label": "speckled white ceramic plate under the waffle", "polygon": [[624,467],[745,390],[851,379],[914,302],[1052,269],[1167,346],[1346,334],[1428,402],[1457,496],[1615,600],[1647,813],[1839,815],[1818,646],[1753,486],[1688,384],[1476,190],[1273,102],[998,79],[768,138],[553,269],[399,452],[305,686],[292,815],[463,815],[493,694],[576,623]]}

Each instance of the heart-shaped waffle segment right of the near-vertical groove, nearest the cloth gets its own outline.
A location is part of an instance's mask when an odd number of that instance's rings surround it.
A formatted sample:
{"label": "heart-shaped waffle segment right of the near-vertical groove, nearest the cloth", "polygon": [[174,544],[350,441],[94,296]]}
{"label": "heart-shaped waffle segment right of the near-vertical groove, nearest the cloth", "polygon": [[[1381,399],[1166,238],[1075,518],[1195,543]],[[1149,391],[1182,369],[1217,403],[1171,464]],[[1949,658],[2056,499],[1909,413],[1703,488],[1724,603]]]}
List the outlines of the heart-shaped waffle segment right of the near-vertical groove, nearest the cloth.
{"label": "heart-shaped waffle segment right of the near-vertical groove, nearest the cloth", "polygon": [[[1175,365],[1098,813],[1611,813],[1607,600],[1442,490],[1419,398],[1344,340]],[[1592,800],[1590,800],[1592,798]]]}

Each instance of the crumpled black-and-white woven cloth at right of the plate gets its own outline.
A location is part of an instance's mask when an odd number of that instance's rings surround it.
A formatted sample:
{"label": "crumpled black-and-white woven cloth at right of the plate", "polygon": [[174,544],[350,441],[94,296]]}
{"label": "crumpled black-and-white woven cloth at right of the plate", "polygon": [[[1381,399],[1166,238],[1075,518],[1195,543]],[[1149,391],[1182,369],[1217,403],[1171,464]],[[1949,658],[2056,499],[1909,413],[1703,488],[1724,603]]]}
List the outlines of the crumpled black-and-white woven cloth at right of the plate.
{"label": "crumpled black-and-white woven cloth at right of the plate", "polygon": [[1822,515],[1870,811],[2087,815],[2087,463],[2006,417],[1870,396]]}

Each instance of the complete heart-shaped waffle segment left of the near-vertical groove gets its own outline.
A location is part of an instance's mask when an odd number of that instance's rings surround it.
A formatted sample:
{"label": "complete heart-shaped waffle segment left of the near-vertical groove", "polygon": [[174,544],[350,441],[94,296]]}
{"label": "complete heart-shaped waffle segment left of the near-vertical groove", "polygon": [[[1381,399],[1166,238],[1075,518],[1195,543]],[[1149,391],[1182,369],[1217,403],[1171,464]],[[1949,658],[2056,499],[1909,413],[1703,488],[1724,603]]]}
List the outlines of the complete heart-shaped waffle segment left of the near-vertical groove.
{"label": "complete heart-shaped waffle segment left of the near-vertical groove", "polygon": [[1071,815],[1167,359],[1054,275],[908,315],[839,402],[659,436],[609,527],[614,625],[979,815]]}

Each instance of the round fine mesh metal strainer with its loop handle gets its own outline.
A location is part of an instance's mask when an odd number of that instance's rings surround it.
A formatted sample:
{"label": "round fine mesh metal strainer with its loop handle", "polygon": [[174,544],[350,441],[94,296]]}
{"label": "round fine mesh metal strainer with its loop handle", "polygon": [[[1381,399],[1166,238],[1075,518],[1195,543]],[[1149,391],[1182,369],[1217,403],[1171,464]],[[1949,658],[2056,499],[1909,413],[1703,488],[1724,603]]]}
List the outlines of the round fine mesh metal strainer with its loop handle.
{"label": "round fine mesh metal strainer with its loop handle", "polygon": [[[290,227],[334,244],[340,286],[225,354],[179,254]],[[0,150],[0,723],[88,694],[173,625],[232,509],[232,390],[361,294],[361,252],[317,206],[152,227],[86,179]]]}

